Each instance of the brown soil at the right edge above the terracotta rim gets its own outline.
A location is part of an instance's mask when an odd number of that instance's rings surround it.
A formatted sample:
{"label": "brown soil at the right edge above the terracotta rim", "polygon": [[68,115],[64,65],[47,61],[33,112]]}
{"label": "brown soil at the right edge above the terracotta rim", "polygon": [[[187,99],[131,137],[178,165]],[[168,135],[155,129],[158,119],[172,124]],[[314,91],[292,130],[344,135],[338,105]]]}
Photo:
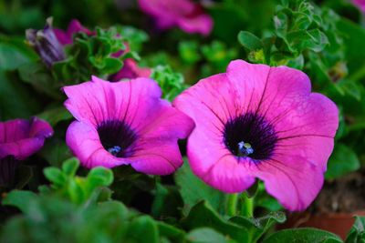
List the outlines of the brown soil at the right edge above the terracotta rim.
{"label": "brown soil at the right edge above the terracotta rim", "polygon": [[327,181],[309,208],[316,213],[350,213],[365,208],[365,171]]}

